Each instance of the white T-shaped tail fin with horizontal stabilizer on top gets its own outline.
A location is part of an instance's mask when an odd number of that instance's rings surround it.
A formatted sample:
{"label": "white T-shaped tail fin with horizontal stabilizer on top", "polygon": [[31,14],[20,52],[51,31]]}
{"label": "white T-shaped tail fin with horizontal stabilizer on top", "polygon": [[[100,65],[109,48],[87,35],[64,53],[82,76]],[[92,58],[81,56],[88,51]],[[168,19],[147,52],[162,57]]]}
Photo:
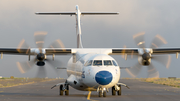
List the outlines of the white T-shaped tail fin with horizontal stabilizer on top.
{"label": "white T-shaped tail fin with horizontal stabilizer on top", "polygon": [[119,12],[81,12],[79,10],[79,6],[76,5],[76,12],[53,12],[53,13],[36,12],[35,14],[38,14],[38,15],[70,15],[70,16],[75,15],[76,16],[77,48],[83,48],[82,37],[81,37],[81,23],[80,23],[81,15],[116,15],[116,14],[119,14]]}

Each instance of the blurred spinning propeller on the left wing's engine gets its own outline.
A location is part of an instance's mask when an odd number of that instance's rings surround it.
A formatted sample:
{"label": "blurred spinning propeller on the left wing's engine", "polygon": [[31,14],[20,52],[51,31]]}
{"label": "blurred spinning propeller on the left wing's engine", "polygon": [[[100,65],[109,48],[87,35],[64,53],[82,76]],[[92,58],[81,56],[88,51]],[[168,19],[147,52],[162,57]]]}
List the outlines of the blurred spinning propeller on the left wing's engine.
{"label": "blurred spinning propeller on the left wing's engine", "polygon": [[[23,48],[29,50],[29,53],[27,53],[29,54],[29,61],[17,62],[17,66],[21,73],[26,73],[34,66],[34,64],[36,64],[38,66],[37,77],[44,78],[46,77],[45,63],[49,63],[52,69],[54,69],[54,71],[57,73],[55,67],[61,64],[60,61],[54,60],[54,55],[53,59],[48,59],[46,57],[46,51],[45,49],[43,49],[44,39],[46,35],[46,32],[34,33],[34,40],[37,48],[30,48],[29,45],[26,44],[24,39],[20,42],[18,46],[19,51],[21,51],[21,49]],[[50,48],[64,48],[64,45],[61,40],[58,39],[50,45]],[[34,55],[35,57],[33,59],[30,59],[30,55]]]}

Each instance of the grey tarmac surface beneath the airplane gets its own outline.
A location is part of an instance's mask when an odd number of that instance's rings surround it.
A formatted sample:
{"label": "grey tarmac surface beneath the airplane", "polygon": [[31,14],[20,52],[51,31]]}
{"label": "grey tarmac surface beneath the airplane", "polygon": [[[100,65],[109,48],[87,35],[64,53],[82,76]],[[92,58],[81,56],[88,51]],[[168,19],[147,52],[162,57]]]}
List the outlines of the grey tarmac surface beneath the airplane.
{"label": "grey tarmac surface beneath the airplane", "polygon": [[[34,84],[0,88],[0,101],[87,101],[87,91],[78,91],[70,87],[69,96],[59,96],[59,87],[51,89],[65,80],[54,80]],[[121,79],[130,89],[122,87],[121,96],[112,96],[111,89],[107,97],[98,97],[93,91],[90,100],[94,101],[180,101],[180,88],[141,82],[136,79]]]}

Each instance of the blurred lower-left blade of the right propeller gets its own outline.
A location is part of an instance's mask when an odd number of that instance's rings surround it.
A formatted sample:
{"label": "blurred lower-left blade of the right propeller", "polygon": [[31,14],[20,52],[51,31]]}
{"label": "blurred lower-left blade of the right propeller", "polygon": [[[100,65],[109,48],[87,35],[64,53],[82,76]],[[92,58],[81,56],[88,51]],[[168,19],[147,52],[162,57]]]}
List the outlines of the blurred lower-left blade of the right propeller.
{"label": "blurred lower-left blade of the right propeller", "polygon": [[126,69],[126,72],[130,75],[130,76],[132,76],[133,78],[135,78],[138,74],[139,74],[139,72],[141,71],[141,69],[142,69],[142,65],[140,65],[139,63],[136,63],[136,65],[135,66],[133,66],[132,68],[127,68]]}

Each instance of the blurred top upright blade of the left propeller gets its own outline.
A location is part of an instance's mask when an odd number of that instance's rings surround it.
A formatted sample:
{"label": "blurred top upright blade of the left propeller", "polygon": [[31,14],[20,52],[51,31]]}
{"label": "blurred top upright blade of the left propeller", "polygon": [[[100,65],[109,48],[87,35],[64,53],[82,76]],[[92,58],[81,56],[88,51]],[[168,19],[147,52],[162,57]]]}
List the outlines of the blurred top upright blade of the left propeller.
{"label": "blurred top upright blade of the left propeller", "polygon": [[42,53],[42,48],[44,46],[44,39],[45,39],[46,35],[47,35],[47,32],[35,32],[34,33],[34,40],[35,40],[37,47],[39,48],[40,53]]}

